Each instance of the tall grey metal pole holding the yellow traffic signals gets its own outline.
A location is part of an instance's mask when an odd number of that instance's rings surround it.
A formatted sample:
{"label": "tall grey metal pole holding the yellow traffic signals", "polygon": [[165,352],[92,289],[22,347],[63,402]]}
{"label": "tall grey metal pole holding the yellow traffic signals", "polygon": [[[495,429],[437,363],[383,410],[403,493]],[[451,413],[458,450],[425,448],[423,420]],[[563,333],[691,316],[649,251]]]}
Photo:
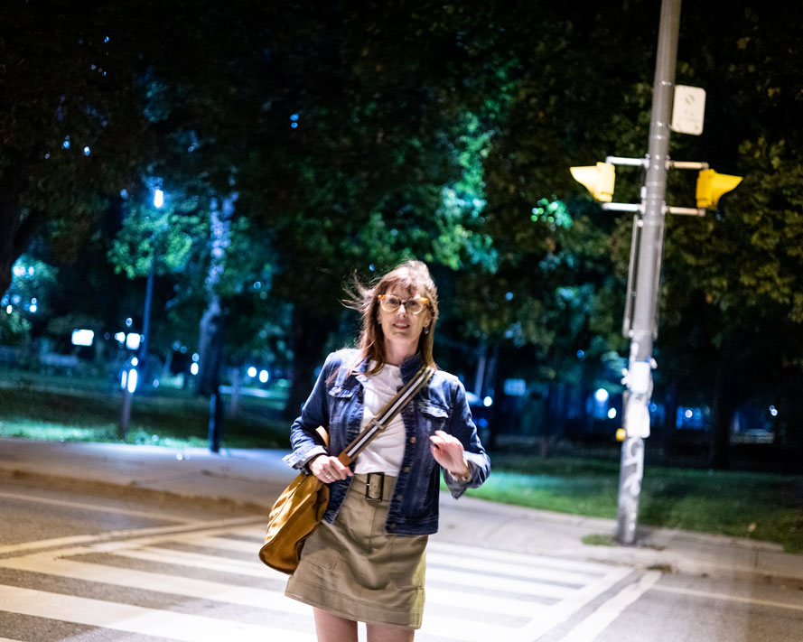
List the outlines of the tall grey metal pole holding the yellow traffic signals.
{"label": "tall grey metal pole holding the yellow traffic signals", "polygon": [[619,510],[616,539],[633,544],[639,517],[644,472],[644,438],[649,436],[649,401],[652,395],[652,342],[664,239],[669,152],[669,122],[675,86],[680,0],[663,0],[658,29],[658,53],[649,124],[647,169],[641,187],[641,217],[633,220],[630,284],[625,330],[630,337],[626,377],[624,428],[621,444]]}

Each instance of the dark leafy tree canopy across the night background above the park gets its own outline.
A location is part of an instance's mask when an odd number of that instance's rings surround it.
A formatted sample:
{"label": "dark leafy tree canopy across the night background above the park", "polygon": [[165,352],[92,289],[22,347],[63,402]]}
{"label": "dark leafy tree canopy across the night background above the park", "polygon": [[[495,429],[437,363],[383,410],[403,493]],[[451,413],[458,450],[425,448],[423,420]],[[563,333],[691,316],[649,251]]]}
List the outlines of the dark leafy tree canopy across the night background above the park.
{"label": "dark leafy tree canopy across the night background above the park", "polygon": [[[406,256],[441,275],[453,340],[510,345],[528,376],[607,376],[626,348],[631,221],[568,168],[645,153],[656,3],[0,11],[0,292],[36,228],[75,260],[126,190],[111,256],[140,279],[159,239],[169,316],[189,335],[209,297],[211,204],[237,194],[215,293],[237,320],[234,360],[266,342],[292,353],[290,412],[348,327],[343,280]],[[659,392],[735,398],[721,374],[799,370],[800,11],[683,6],[677,82],[707,107],[703,135],[672,135],[671,155],[745,180],[717,213],[668,219]],[[142,198],[155,177],[182,203],[158,217]],[[691,204],[693,178],[671,173],[670,204]],[[638,170],[618,172],[616,200],[639,190]]]}

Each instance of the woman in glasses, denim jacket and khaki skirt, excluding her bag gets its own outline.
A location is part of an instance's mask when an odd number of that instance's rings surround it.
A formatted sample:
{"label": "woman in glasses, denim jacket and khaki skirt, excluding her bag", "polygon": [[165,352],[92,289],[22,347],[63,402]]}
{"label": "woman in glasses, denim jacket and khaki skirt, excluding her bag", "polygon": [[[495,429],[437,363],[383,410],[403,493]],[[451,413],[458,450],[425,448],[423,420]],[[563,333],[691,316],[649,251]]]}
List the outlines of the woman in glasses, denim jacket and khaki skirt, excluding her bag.
{"label": "woman in glasses, denim jacket and khaki skirt, excluding her bag", "polygon": [[[434,368],[437,290],[421,262],[407,261],[373,287],[359,287],[359,349],[331,354],[291,430],[285,461],[330,485],[323,522],[303,547],[285,595],[313,606],[319,642],[406,642],[421,627],[425,547],[438,528],[440,470],[454,498],[490,472],[465,390],[434,376],[359,453],[337,455],[412,378]],[[331,455],[315,441],[330,431]]]}

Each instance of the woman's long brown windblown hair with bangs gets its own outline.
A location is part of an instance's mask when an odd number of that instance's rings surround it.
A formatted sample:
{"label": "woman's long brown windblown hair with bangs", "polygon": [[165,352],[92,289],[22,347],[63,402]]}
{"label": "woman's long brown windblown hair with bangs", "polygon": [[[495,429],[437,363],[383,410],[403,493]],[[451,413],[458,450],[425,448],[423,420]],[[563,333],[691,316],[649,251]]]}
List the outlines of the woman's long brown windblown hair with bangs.
{"label": "woman's long brown windblown hair with bangs", "polygon": [[[405,290],[410,296],[420,293],[429,301],[426,303],[429,308],[431,320],[426,331],[421,332],[418,338],[418,354],[424,360],[426,366],[436,368],[432,356],[434,343],[435,321],[438,320],[438,289],[435,287],[429,269],[421,261],[408,260],[398,265],[372,285],[363,285],[358,279],[354,279],[354,284],[350,290],[350,301],[346,302],[348,307],[356,310],[362,317],[362,328],[359,332],[359,357],[358,362],[368,359],[375,363],[370,368],[369,374],[375,375],[382,369],[387,361],[385,353],[385,335],[379,325],[379,294],[384,294],[399,287]],[[424,312],[421,312],[422,314]]]}

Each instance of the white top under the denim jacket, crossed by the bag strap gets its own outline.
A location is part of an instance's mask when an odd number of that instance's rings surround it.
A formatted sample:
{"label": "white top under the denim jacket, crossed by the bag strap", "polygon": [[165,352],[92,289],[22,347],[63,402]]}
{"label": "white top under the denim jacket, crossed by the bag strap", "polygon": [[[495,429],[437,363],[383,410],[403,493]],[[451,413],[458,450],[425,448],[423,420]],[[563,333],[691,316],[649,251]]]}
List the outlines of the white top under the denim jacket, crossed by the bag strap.
{"label": "white top under the denim jacket, crossed by the bag strap", "polygon": [[[402,386],[398,366],[386,364],[376,375],[366,376],[366,379],[365,409],[360,431],[387,405],[387,402],[396,396]],[[405,424],[401,413],[398,413],[387,424],[387,428],[378,433],[366,449],[359,453],[354,465],[355,472],[384,472],[397,477],[405,454],[405,439]]]}

